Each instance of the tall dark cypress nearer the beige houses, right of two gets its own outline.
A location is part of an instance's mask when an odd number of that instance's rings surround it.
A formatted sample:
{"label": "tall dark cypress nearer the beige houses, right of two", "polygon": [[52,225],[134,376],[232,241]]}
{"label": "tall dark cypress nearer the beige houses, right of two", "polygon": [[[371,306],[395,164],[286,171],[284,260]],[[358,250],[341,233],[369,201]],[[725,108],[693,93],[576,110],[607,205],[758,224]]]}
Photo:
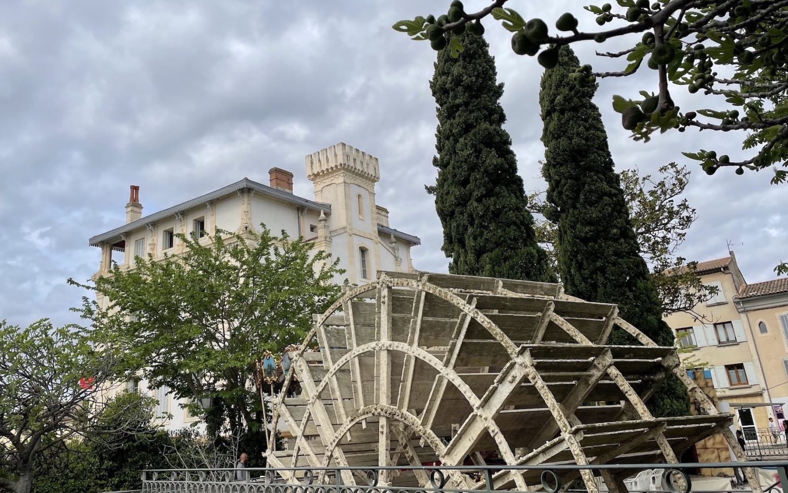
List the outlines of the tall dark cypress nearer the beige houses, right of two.
{"label": "tall dark cypress nearer the beige houses, right of two", "polygon": [[[557,224],[558,268],[568,294],[592,302],[617,303],[619,315],[660,346],[673,346],[674,335],[662,318],[662,306],[649,268],[638,253],[626,201],[608,149],[596,87],[580,88],[569,78],[579,66],[569,46],[559,64],[541,80],[545,165],[548,182],[545,217]],[[634,343],[618,330],[611,343]],[[657,416],[689,411],[686,389],[675,376],[649,401]]]}

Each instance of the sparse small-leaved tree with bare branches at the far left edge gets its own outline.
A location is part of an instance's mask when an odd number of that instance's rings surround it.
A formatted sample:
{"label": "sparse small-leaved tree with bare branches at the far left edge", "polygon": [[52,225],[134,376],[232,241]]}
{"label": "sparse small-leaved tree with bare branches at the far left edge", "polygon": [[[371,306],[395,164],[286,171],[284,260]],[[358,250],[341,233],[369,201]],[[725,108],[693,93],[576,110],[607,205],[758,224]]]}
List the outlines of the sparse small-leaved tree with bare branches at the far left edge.
{"label": "sparse small-leaved tree with bare branches at the far left edge", "polygon": [[[110,349],[92,333],[40,320],[26,328],[0,321],[0,488],[28,493],[35,459],[65,441],[112,435],[148,419],[139,406],[106,407],[100,388],[117,375]],[[106,412],[102,412],[106,411]]]}

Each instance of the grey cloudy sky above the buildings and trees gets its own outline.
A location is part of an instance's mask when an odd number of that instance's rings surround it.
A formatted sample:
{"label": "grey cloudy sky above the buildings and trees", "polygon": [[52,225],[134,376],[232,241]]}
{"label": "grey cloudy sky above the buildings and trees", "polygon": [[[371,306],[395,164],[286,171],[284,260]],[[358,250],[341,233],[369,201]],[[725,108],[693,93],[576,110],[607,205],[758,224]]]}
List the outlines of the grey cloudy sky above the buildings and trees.
{"label": "grey cloudy sky above the buildings and trees", "polygon": [[[467,9],[486,2],[467,0]],[[587,2],[514,0],[526,17],[552,22]],[[542,5],[545,2],[541,2]],[[418,235],[418,269],[445,271],[440,223],[425,183],[436,125],[429,94],[435,54],[390,28],[440,13],[448,0],[350,2],[44,2],[4,0],[0,15],[0,319],[74,321],[84,293],[68,287],[99,267],[91,235],[124,222],[128,185],[145,213],[248,176],[266,183],[272,166],[296,174],[311,197],[303,157],[346,142],[381,160],[377,202],[392,227]],[[544,149],[535,59],[508,48],[488,22],[506,128],[526,189],[543,188]],[[615,69],[576,46],[582,61]],[[617,46],[612,46],[615,49]],[[620,67],[619,67],[620,68]],[[735,158],[736,135],[693,132],[634,143],[610,108],[611,95],[655,89],[653,72],[603,81],[597,93],[620,169],[653,169],[704,147]],[[692,104],[685,91],[675,98]],[[720,153],[723,154],[723,153]],[[682,254],[719,258],[733,244],[749,282],[774,277],[786,254],[786,188],[768,172],[693,172],[687,194],[699,218]],[[782,200],[781,200],[782,199]]]}

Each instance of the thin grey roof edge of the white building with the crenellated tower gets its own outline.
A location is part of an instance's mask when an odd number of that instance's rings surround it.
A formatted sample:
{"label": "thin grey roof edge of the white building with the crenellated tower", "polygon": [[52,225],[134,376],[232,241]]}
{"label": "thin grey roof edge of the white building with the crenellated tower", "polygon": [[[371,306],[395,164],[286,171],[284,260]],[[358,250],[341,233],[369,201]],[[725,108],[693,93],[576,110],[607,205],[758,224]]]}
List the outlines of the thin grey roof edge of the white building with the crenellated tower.
{"label": "thin grey roof edge of the white building with the crenellated tower", "polygon": [[[120,228],[115,228],[100,235],[95,235],[89,239],[88,242],[90,243],[91,247],[99,247],[101,243],[107,242],[117,243],[121,241],[121,235],[134,231],[137,228],[142,228],[145,224],[153,224],[158,221],[162,221],[169,217],[173,217],[176,213],[182,213],[189,209],[194,209],[197,206],[203,206],[208,202],[213,202],[219,198],[227,197],[228,195],[232,195],[241,190],[256,191],[262,195],[268,195],[269,197],[277,198],[283,202],[291,203],[294,206],[304,207],[306,209],[311,209],[318,212],[323,211],[327,214],[331,213],[331,204],[314,202],[313,200],[308,200],[307,198],[297,197],[296,195],[292,195],[289,192],[277,190],[276,188],[269,187],[268,185],[263,185],[262,183],[257,183],[256,181],[244,178],[243,180],[236,181],[236,183],[229,184],[226,187],[221,187],[220,189],[212,191],[206,195],[200,195],[197,198],[192,198],[191,200],[178,204],[177,206],[160,210],[158,213],[152,213],[150,216],[141,217],[136,221],[124,224]],[[400,233],[400,235],[404,235],[404,233]],[[405,236],[414,238],[414,236],[410,235]]]}

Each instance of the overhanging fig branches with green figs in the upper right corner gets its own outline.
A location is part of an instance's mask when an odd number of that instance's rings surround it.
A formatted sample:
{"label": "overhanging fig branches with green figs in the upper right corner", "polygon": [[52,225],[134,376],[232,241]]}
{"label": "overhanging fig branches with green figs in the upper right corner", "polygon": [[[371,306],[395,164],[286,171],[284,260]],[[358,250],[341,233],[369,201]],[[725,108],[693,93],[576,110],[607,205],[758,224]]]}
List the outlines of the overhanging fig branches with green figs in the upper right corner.
{"label": "overhanging fig branches with green figs in the upper right corner", "polygon": [[[494,0],[474,13],[466,13],[462,2],[454,0],[448,13],[433,17],[400,20],[393,28],[413,39],[429,39],[433,48],[448,44],[453,56],[466,45],[463,32],[481,35],[481,20],[492,16],[513,32],[512,49],[517,54],[536,55],[541,65],[553,69],[559,47],[580,41],[608,42],[623,35],[643,33],[629,49],[598,53],[604,57],[626,57],[620,72],[594,72],[591,65],[578,66],[567,74],[579,87],[592,87],[597,77],[631,76],[645,67],[654,70],[652,87],[640,96],[614,97],[613,107],[622,113],[622,124],[635,140],[648,141],[656,131],[678,128],[697,130],[748,131],[742,148],[752,150],[741,161],[715,150],[685,153],[701,161],[712,174],[722,166],[760,171],[775,165],[772,183],[785,182],[788,170],[788,1],[786,0],[616,0],[617,5],[585,6],[596,16],[598,32],[579,32],[578,20],[563,13],[551,32],[537,17],[525,20],[514,9],[504,8],[507,0]],[[608,24],[610,24],[608,26]],[[541,53],[540,53],[541,50]],[[645,63],[644,63],[645,61]],[[645,65],[645,67],[644,67]],[[682,113],[671,98],[673,90],[707,96],[697,98],[704,106],[727,109],[696,109]],[[722,153],[720,153],[722,154]]]}

